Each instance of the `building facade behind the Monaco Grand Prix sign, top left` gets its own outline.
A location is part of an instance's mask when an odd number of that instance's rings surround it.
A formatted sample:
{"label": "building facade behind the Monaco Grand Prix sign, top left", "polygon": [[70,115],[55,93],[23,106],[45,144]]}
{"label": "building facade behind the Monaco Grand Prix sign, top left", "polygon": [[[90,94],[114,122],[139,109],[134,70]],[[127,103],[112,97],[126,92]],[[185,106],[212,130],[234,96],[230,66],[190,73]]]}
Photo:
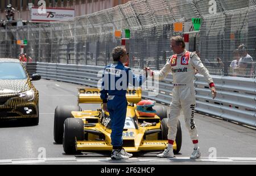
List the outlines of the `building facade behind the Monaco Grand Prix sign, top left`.
{"label": "building facade behind the Monaco Grand Prix sign, top left", "polygon": [[[47,7],[75,8],[75,16],[92,14],[107,8],[128,2],[129,0],[45,0]],[[15,19],[30,20],[30,10],[28,3],[33,7],[38,6],[39,0],[1,0],[0,1],[0,19],[5,19],[5,8],[11,4],[18,10],[15,12]]]}

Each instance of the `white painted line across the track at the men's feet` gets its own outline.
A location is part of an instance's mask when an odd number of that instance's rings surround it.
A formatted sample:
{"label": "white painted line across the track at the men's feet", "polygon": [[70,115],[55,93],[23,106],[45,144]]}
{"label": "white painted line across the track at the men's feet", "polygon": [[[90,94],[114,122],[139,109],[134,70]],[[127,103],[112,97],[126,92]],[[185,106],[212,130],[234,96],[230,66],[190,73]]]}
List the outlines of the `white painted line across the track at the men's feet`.
{"label": "white painted line across the track at the men's feet", "polygon": [[130,162],[255,162],[256,157],[217,157],[208,158],[201,157],[196,160],[191,160],[189,157],[175,158],[136,158],[132,157],[129,160],[111,160],[110,157],[104,158],[89,158],[89,157],[60,157],[60,158],[24,158],[14,160],[0,160],[1,164],[43,164],[43,163],[60,163],[60,162],[113,162],[113,163],[130,163]]}

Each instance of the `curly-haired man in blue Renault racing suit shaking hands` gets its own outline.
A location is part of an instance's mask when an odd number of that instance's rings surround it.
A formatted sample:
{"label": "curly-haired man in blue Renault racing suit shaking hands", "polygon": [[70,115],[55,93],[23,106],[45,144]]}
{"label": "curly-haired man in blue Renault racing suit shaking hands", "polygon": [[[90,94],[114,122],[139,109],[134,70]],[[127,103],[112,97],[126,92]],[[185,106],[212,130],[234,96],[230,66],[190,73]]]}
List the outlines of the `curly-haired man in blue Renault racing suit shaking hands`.
{"label": "curly-haired man in blue Renault racing suit shaking hands", "polygon": [[126,91],[128,84],[134,87],[141,86],[146,80],[146,72],[135,76],[131,68],[123,66],[127,62],[126,49],[117,46],[112,51],[114,63],[105,67],[102,75],[101,99],[103,109],[109,111],[112,133],[110,135],[113,145],[112,160],[127,160],[133,154],[123,149],[122,134],[125,126],[127,100]]}

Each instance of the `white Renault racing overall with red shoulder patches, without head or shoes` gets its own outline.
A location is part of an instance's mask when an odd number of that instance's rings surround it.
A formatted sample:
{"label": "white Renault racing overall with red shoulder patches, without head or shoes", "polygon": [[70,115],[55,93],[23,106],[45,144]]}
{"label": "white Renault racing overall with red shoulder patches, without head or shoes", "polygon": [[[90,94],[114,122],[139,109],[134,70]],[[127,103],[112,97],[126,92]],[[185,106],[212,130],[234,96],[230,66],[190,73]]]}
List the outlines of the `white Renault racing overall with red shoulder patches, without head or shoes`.
{"label": "white Renault racing overall with red shoulder patches, without head or shoes", "polygon": [[[180,110],[183,110],[185,125],[193,143],[197,143],[197,129],[194,122],[194,111],[196,106],[194,76],[195,69],[204,75],[208,83],[213,84],[207,68],[204,67],[200,58],[189,51],[175,54],[170,57],[166,65],[159,72],[154,72],[154,78],[162,80],[172,72],[174,89],[172,89],[172,102],[170,114],[167,121],[168,140],[174,141],[177,133],[177,122]],[[213,84],[214,85],[214,84]]]}

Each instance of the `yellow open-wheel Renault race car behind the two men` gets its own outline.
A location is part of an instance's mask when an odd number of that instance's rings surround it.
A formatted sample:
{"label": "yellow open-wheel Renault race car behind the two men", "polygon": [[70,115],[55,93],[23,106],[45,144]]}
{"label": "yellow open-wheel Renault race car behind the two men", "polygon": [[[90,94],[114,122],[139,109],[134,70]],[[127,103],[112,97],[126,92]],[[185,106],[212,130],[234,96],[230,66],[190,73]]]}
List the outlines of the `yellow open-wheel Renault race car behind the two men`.
{"label": "yellow open-wheel Renault race car behind the two men", "polygon": [[[154,106],[155,117],[140,117],[136,103],[141,101],[141,90],[126,94],[127,114],[123,129],[123,147],[127,152],[160,151],[167,147],[167,111],[164,106]],[[78,104],[99,104],[97,88],[80,88]],[[63,143],[64,152],[112,151],[110,117],[108,111],[82,110],[80,106],[57,106],[54,117],[54,140]],[[177,124],[174,152],[181,148],[181,127]]]}

